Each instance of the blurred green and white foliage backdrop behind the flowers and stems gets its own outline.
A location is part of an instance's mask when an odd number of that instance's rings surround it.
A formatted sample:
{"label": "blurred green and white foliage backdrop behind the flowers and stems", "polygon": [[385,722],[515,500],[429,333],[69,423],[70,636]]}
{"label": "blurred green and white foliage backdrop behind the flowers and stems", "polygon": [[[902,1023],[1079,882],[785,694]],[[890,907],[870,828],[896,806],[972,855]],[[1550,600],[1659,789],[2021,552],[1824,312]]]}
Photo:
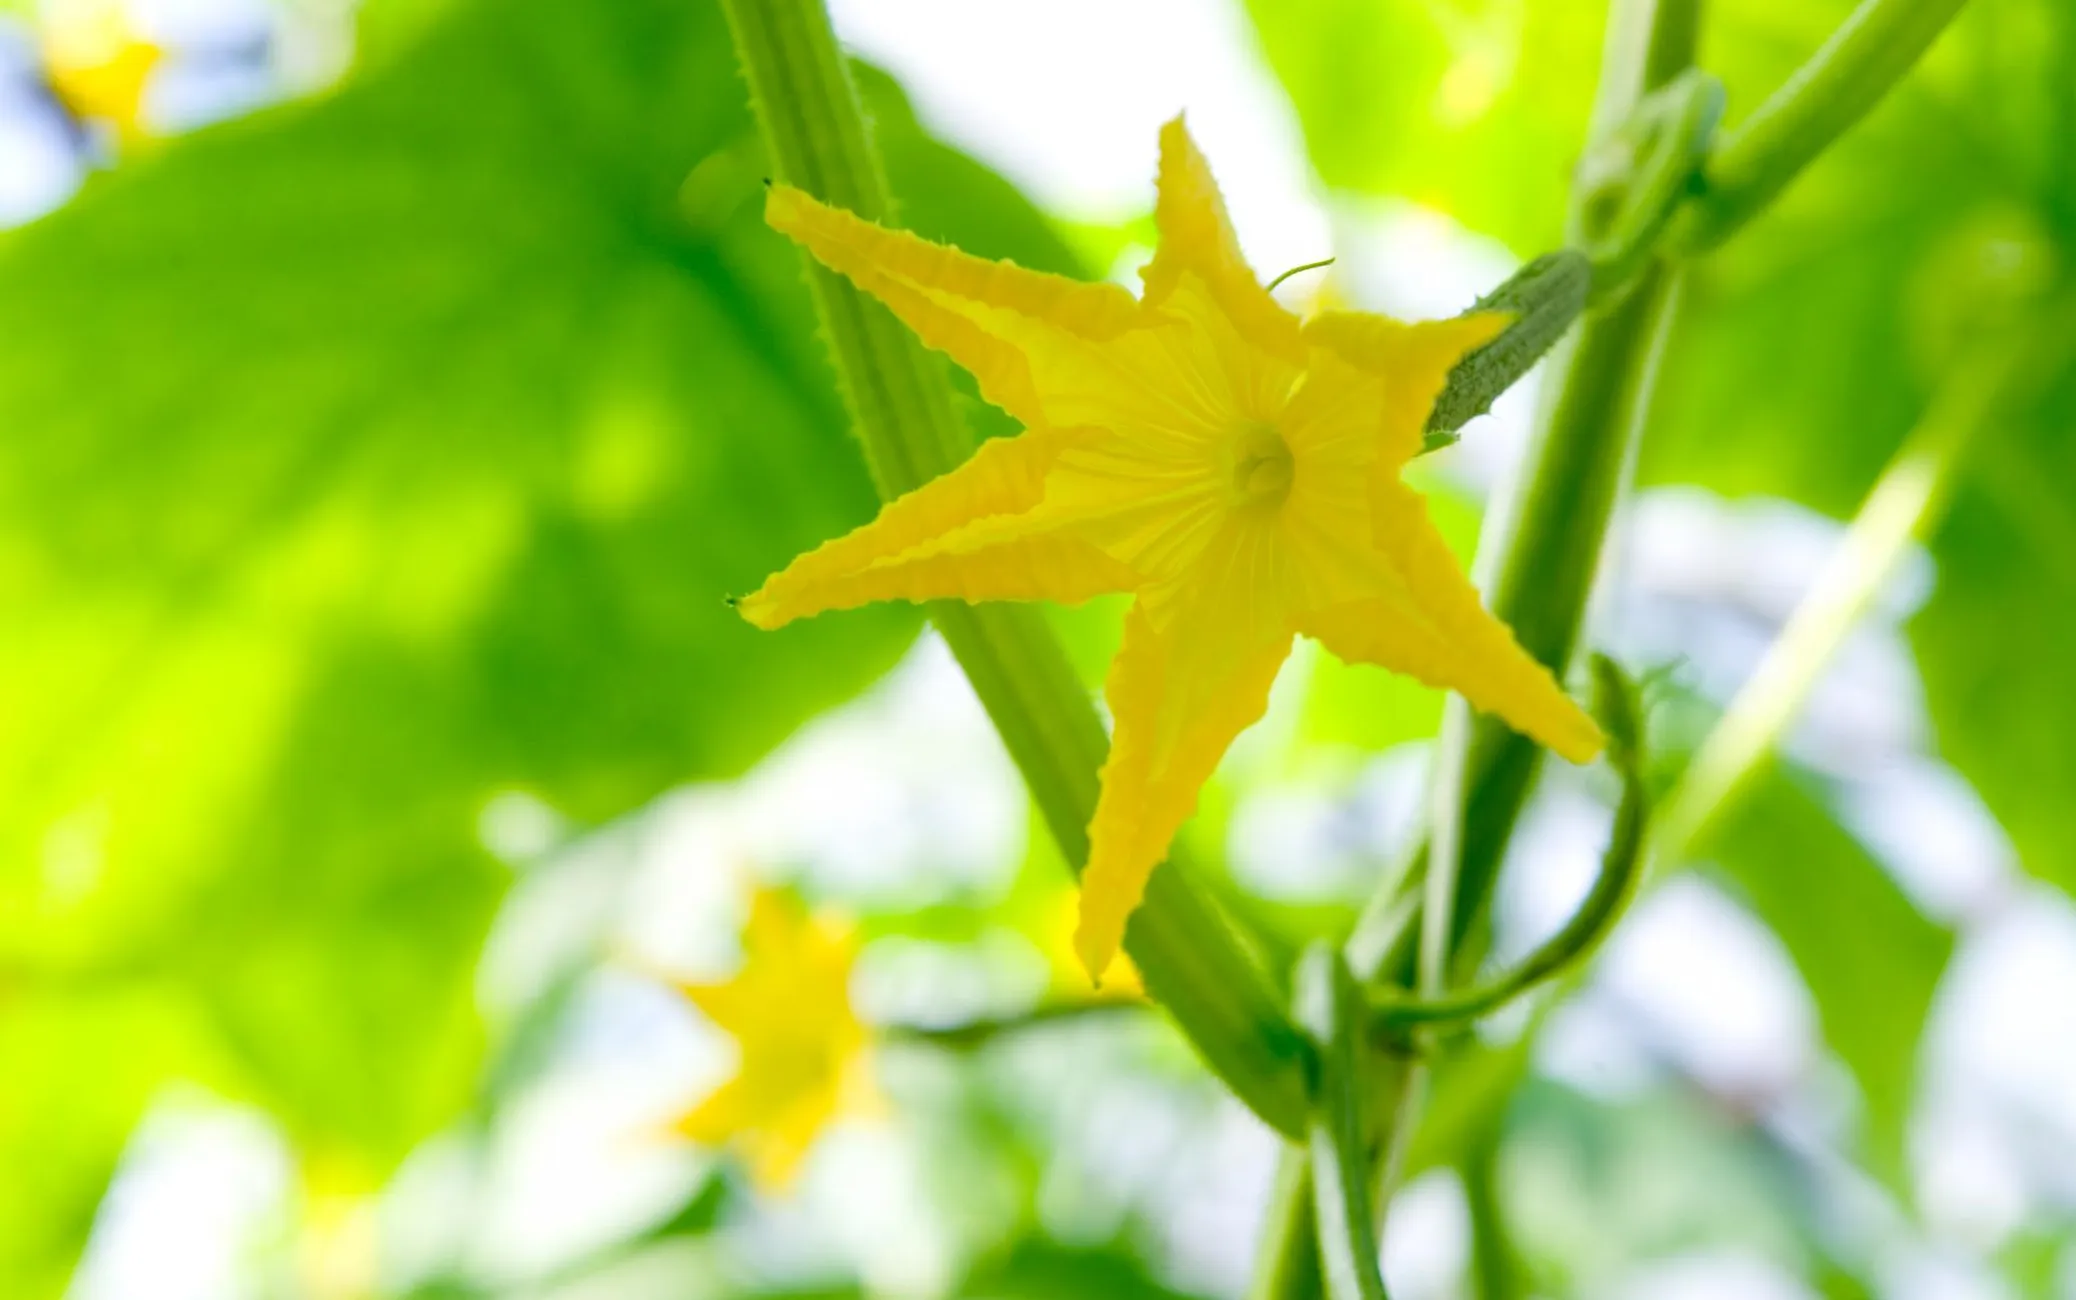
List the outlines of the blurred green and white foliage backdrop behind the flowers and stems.
{"label": "blurred green and white foliage backdrop behind the flowers and stems", "polygon": [[[722,604],[874,503],[718,8],[100,6],[149,71],[100,81],[83,8],[0,6],[0,197],[50,208],[0,235],[0,1294],[1235,1294],[1273,1150],[1144,1013],[889,1028],[895,1119],[789,1196],[662,1132],[727,1047],[646,972],[725,970],[745,878],[862,920],[884,1026],[1071,986],[1065,872],[916,615]],[[839,6],[916,81],[859,66],[926,235],[1129,270],[1150,193],[1061,197],[932,58],[1138,112],[1098,52],[1158,98],[1198,31],[1262,87],[1192,118],[1229,187],[1219,114],[1291,123],[1322,297],[1441,314],[1561,239],[1601,4],[972,8]],[[1713,4],[1731,120],[1848,8]],[[1150,166],[1158,116],[1104,131]],[[2076,17],[1981,0],[1688,276],[1599,617],[1673,665],[1667,777],[1956,376],[2037,374],[1702,870],[1445,1065],[1403,1294],[2076,1294],[2072,249]],[[1466,554],[1522,409],[1420,469]],[[1094,683],[1115,608],[1057,621]],[[1214,885],[1345,924],[1439,712],[1302,656],[1187,831]],[[1547,787],[1501,947],[1605,835],[1594,777]]]}

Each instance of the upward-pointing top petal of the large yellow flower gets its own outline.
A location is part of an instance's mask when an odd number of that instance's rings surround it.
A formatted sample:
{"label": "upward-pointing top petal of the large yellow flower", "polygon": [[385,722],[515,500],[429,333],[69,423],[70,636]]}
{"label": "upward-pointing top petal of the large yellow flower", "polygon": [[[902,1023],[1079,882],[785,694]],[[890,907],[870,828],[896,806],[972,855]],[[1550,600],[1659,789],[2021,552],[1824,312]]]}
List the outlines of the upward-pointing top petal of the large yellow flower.
{"label": "upward-pointing top petal of the large yellow flower", "polygon": [[1225,195],[1179,116],[1160,127],[1154,226],[1160,231],[1160,247],[1140,272],[1148,305],[1158,307],[1175,293],[1183,272],[1194,272],[1256,347],[1304,363],[1298,318],[1262,289],[1248,266],[1239,237],[1233,235],[1233,218],[1225,212]]}

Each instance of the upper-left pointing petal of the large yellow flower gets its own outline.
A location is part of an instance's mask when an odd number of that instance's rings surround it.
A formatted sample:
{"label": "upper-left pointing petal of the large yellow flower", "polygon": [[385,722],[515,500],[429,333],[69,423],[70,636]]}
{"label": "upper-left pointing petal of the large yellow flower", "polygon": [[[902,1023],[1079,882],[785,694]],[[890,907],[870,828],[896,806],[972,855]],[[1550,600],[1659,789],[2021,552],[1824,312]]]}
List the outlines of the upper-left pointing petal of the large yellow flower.
{"label": "upper-left pointing petal of the large yellow flower", "polygon": [[1038,401],[1030,351],[1086,355],[1144,326],[1119,285],[990,262],[889,231],[791,185],[772,185],[764,220],[886,303],[924,343],[974,372],[988,401],[1028,426],[1057,424]]}

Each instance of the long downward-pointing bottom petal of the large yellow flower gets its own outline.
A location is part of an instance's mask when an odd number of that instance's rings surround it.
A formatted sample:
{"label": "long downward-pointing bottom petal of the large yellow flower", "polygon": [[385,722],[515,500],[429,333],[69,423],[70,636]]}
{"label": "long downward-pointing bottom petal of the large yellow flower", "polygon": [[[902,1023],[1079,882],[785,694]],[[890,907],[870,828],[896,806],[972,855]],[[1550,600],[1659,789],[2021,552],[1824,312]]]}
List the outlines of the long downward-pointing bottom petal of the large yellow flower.
{"label": "long downward-pointing bottom petal of the large yellow flower", "polygon": [[1133,606],[1111,665],[1104,694],[1115,733],[1088,827],[1073,935],[1075,955],[1098,982],[1198,791],[1233,737],[1268,708],[1268,687],[1289,656],[1289,631],[1279,640],[1244,635],[1221,629],[1212,613],[1204,602],[1196,617],[1156,629],[1146,606]]}

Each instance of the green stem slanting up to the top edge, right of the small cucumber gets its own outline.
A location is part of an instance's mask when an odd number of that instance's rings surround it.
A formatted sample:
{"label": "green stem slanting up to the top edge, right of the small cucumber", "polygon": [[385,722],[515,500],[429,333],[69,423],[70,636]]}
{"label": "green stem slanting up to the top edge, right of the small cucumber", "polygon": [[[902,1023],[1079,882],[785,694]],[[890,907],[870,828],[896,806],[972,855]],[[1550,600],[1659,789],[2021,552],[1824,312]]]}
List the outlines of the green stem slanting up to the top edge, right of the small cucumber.
{"label": "green stem slanting up to the top edge, right of the small cucumber", "polygon": [[1889,93],[1966,2],[1862,0],[1806,64],[1723,139],[1709,164],[1706,193],[1673,233],[1673,245],[1686,253],[1711,249],[1756,216]]}

